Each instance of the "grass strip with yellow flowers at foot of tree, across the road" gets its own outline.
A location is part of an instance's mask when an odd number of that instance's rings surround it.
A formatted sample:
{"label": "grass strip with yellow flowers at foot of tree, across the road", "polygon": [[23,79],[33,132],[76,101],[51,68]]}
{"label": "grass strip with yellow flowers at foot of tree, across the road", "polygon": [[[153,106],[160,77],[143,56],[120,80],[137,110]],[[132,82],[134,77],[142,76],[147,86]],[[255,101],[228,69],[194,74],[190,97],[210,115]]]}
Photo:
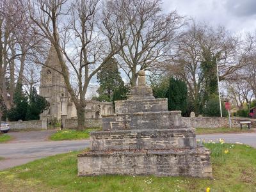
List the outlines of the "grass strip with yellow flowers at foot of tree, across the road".
{"label": "grass strip with yellow flowers at foot of tree, across the road", "polygon": [[83,140],[90,138],[91,131],[100,131],[100,128],[85,129],[84,131],[76,131],[72,129],[64,129],[55,132],[50,136],[50,140],[60,141],[60,140]]}

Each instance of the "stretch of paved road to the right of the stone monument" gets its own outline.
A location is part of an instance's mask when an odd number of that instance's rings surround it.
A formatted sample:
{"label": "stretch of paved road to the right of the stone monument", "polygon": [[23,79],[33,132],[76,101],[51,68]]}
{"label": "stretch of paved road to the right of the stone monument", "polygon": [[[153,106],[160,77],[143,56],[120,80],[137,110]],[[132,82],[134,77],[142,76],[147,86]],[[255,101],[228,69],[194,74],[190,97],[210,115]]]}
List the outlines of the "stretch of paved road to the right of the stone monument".
{"label": "stretch of paved road to the right of the stone monument", "polygon": [[196,138],[205,141],[216,141],[220,138],[226,143],[244,143],[256,148],[256,133],[233,133],[233,134],[201,134],[196,135]]}

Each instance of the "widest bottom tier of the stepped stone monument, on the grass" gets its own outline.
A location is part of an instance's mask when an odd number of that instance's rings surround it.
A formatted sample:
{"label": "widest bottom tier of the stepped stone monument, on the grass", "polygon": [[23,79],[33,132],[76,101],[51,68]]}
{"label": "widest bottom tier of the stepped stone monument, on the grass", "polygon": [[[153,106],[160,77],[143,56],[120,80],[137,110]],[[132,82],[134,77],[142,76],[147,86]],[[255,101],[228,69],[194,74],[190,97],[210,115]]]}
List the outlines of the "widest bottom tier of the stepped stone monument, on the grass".
{"label": "widest bottom tier of the stepped stone monument, on the grass", "polygon": [[78,155],[78,176],[156,175],[212,178],[211,152],[183,150],[90,151]]}

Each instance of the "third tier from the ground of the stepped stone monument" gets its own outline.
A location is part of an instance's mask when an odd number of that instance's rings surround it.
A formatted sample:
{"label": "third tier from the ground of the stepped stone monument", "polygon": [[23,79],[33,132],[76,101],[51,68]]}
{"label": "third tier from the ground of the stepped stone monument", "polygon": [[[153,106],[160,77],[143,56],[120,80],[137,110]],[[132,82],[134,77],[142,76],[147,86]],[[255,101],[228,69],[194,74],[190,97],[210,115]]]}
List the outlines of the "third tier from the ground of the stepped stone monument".
{"label": "third tier from the ground of the stepped stone monument", "polygon": [[181,126],[181,111],[120,113],[102,118],[103,130],[168,129]]}

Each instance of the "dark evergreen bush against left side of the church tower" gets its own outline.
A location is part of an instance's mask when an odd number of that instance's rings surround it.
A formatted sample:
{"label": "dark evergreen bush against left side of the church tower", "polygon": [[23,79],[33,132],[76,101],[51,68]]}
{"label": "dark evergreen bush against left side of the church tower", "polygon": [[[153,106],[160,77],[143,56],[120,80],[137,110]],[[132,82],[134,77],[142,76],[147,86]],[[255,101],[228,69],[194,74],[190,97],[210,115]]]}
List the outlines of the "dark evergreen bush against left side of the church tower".
{"label": "dark evergreen bush against left side of the church tower", "polygon": [[40,118],[40,113],[49,107],[47,100],[38,95],[36,88],[33,87],[29,95],[29,104],[26,113],[26,120],[38,120]]}

